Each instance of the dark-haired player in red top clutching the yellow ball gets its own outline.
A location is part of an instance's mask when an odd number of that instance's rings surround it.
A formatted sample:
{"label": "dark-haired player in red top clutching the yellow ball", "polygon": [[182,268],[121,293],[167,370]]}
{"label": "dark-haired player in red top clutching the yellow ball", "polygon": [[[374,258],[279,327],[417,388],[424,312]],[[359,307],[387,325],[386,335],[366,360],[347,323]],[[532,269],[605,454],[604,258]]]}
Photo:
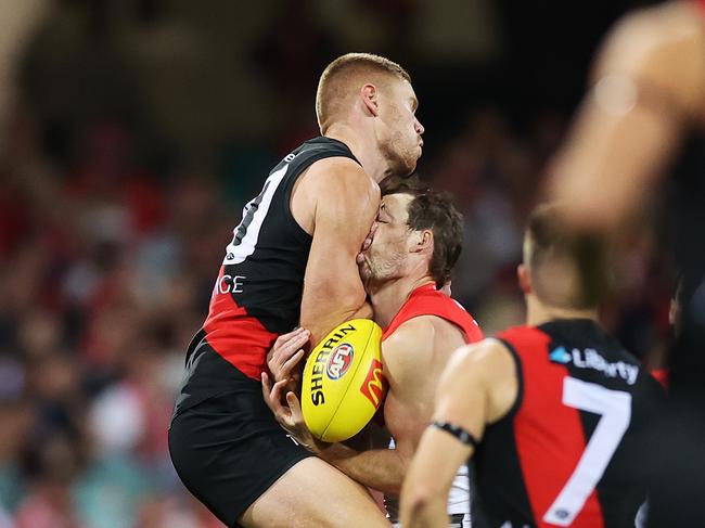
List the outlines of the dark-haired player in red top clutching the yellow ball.
{"label": "dark-haired player in red top clutching the yellow ball", "polygon": [[[358,482],[394,498],[387,499],[387,508],[397,523],[396,506],[389,504],[397,503],[407,467],[431,422],[440,373],[457,347],[478,342],[483,334],[458,302],[438,291],[450,280],[461,250],[462,219],[452,202],[416,180],[385,180],[382,195],[374,239],[362,254],[360,274],[374,320],[384,329],[382,361],[389,383],[384,421],[395,449],[358,452],[343,443],[317,442],[306,428],[296,396],[286,395],[290,407],[280,403],[285,382],[272,388],[265,378],[262,386],[265,399],[297,441]],[[272,370],[298,350],[300,338],[291,337],[289,343],[278,343]],[[450,517],[450,526],[467,527],[464,467],[452,488],[444,510],[446,526]]]}

